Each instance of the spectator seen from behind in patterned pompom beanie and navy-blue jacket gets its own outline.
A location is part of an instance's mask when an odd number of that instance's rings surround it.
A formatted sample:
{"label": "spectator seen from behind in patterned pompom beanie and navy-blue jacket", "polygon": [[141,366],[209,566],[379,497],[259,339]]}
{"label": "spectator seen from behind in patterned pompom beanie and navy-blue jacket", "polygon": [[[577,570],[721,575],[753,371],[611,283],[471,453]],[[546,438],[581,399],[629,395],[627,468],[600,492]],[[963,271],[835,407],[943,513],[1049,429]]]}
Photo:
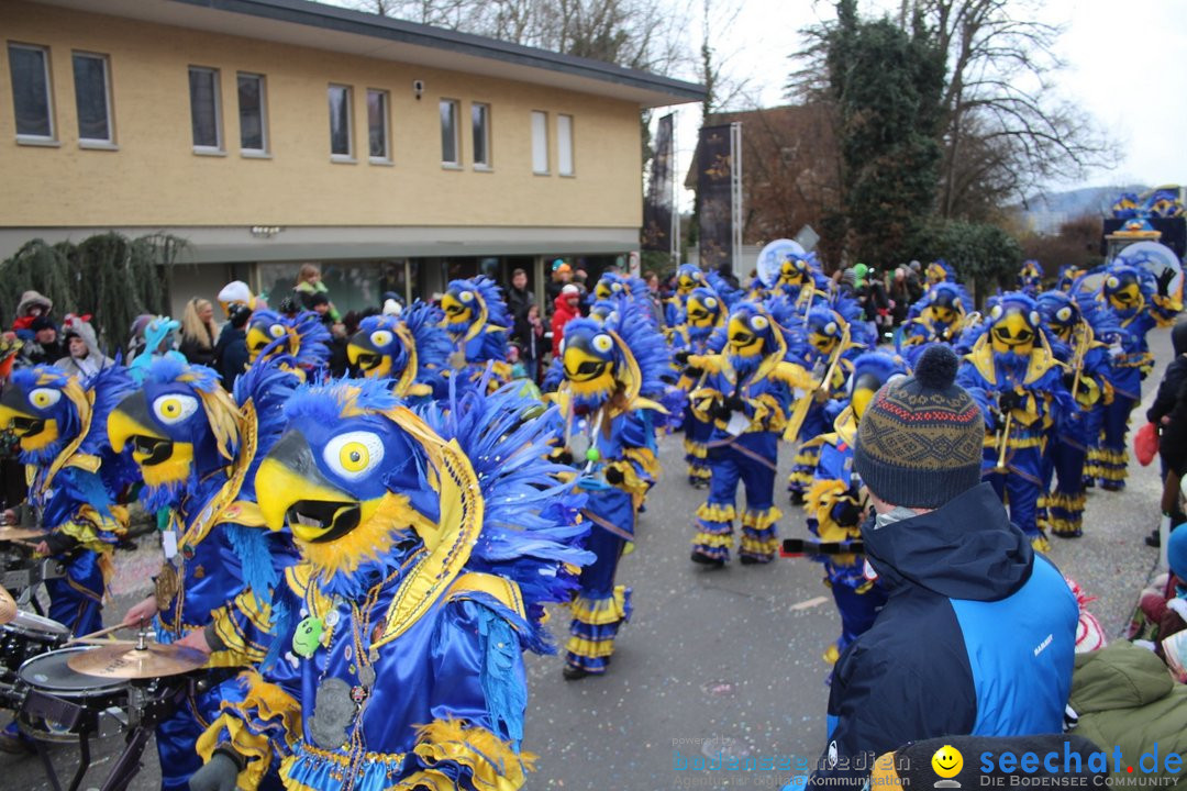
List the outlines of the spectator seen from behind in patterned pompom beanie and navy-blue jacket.
{"label": "spectator seen from behind in patterned pompom beanie and navy-blue jacket", "polygon": [[907,741],[1064,726],[1079,607],[980,483],[984,425],[957,365],[929,347],[857,429],[853,468],[876,512],[862,537],[889,600],[833,670],[821,787],[859,784]]}

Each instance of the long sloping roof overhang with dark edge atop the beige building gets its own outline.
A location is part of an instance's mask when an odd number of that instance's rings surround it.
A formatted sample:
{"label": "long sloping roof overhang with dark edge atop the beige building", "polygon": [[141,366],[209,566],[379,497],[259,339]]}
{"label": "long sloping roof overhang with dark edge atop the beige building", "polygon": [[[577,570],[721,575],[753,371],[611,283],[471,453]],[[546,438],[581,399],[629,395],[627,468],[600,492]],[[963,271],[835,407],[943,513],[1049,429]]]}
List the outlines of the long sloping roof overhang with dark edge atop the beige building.
{"label": "long sloping roof overhang with dark edge atop the beige building", "polygon": [[694,83],[307,0],[32,0],[189,30],[480,74],[640,107],[698,102]]}

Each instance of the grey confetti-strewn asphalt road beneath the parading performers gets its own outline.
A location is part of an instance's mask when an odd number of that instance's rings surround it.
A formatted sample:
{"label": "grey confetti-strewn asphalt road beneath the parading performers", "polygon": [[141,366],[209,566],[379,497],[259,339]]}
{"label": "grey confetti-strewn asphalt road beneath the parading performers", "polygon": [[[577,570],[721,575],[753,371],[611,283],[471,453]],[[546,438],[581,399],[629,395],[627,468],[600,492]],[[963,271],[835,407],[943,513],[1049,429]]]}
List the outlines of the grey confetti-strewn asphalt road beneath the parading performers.
{"label": "grey confetti-strewn asphalt road beneath the parading performers", "polygon": [[[1142,410],[1170,357],[1169,333],[1155,331],[1159,359],[1145,383]],[[1136,426],[1136,423],[1135,423]],[[783,448],[781,479],[791,451]],[[565,682],[560,656],[529,657],[531,687],[525,749],[535,753],[529,789],[770,789],[786,771],[692,771],[690,757],[815,760],[825,734],[827,666],[820,653],[839,632],[819,568],[805,560],[764,567],[731,563],[707,570],[688,561],[692,515],[703,492],[684,478],[678,436],[664,438],[666,476],[640,517],[636,549],[623,559],[618,581],[634,588],[634,615],[620,633],[614,665],[604,677]],[[1124,492],[1093,490],[1086,535],[1055,540],[1052,560],[1097,601],[1088,608],[1110,638],[1121,634],[1138,591],[1156,561],[1142,536],[1157,523],[1156,465],[1132,463]],[[806,536],[802,512],[780,497],[783,536]],[[146,592],[157,566],[155,548],[142,540],[122,555],[116,601],[108,620]],[[567,627],[554,613],[553,632]],[[99,745],[83,787],[97,787],[119,738]],[[70,746],[52,748],[63,776],[76,766]],[[711,765],[711,764],[710,764]],[[49,789],[33,757],[0,755],[5,789]],[[159,778],[155,752],[133,789],[153,789]]]}

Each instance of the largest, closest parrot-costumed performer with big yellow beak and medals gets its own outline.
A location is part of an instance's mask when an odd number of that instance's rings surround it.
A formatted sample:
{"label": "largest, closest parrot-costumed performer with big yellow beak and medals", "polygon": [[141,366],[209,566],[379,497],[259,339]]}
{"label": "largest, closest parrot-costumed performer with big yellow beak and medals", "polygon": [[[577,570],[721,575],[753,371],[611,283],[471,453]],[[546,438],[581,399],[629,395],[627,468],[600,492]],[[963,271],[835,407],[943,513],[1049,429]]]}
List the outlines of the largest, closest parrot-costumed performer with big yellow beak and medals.
{"label": "largest, closest parrot-costumed performer with big yellow beak and medals", "polygon": [[375,379],[290,401],[255,486],[304,556],[300,621],[198,741],[195,784],[255,789],[275,764],[301,791],[523,785],[522,651],[547,650],[544,605],[590,556],[545,460],[554,415],[518,390],[419,414]]}

